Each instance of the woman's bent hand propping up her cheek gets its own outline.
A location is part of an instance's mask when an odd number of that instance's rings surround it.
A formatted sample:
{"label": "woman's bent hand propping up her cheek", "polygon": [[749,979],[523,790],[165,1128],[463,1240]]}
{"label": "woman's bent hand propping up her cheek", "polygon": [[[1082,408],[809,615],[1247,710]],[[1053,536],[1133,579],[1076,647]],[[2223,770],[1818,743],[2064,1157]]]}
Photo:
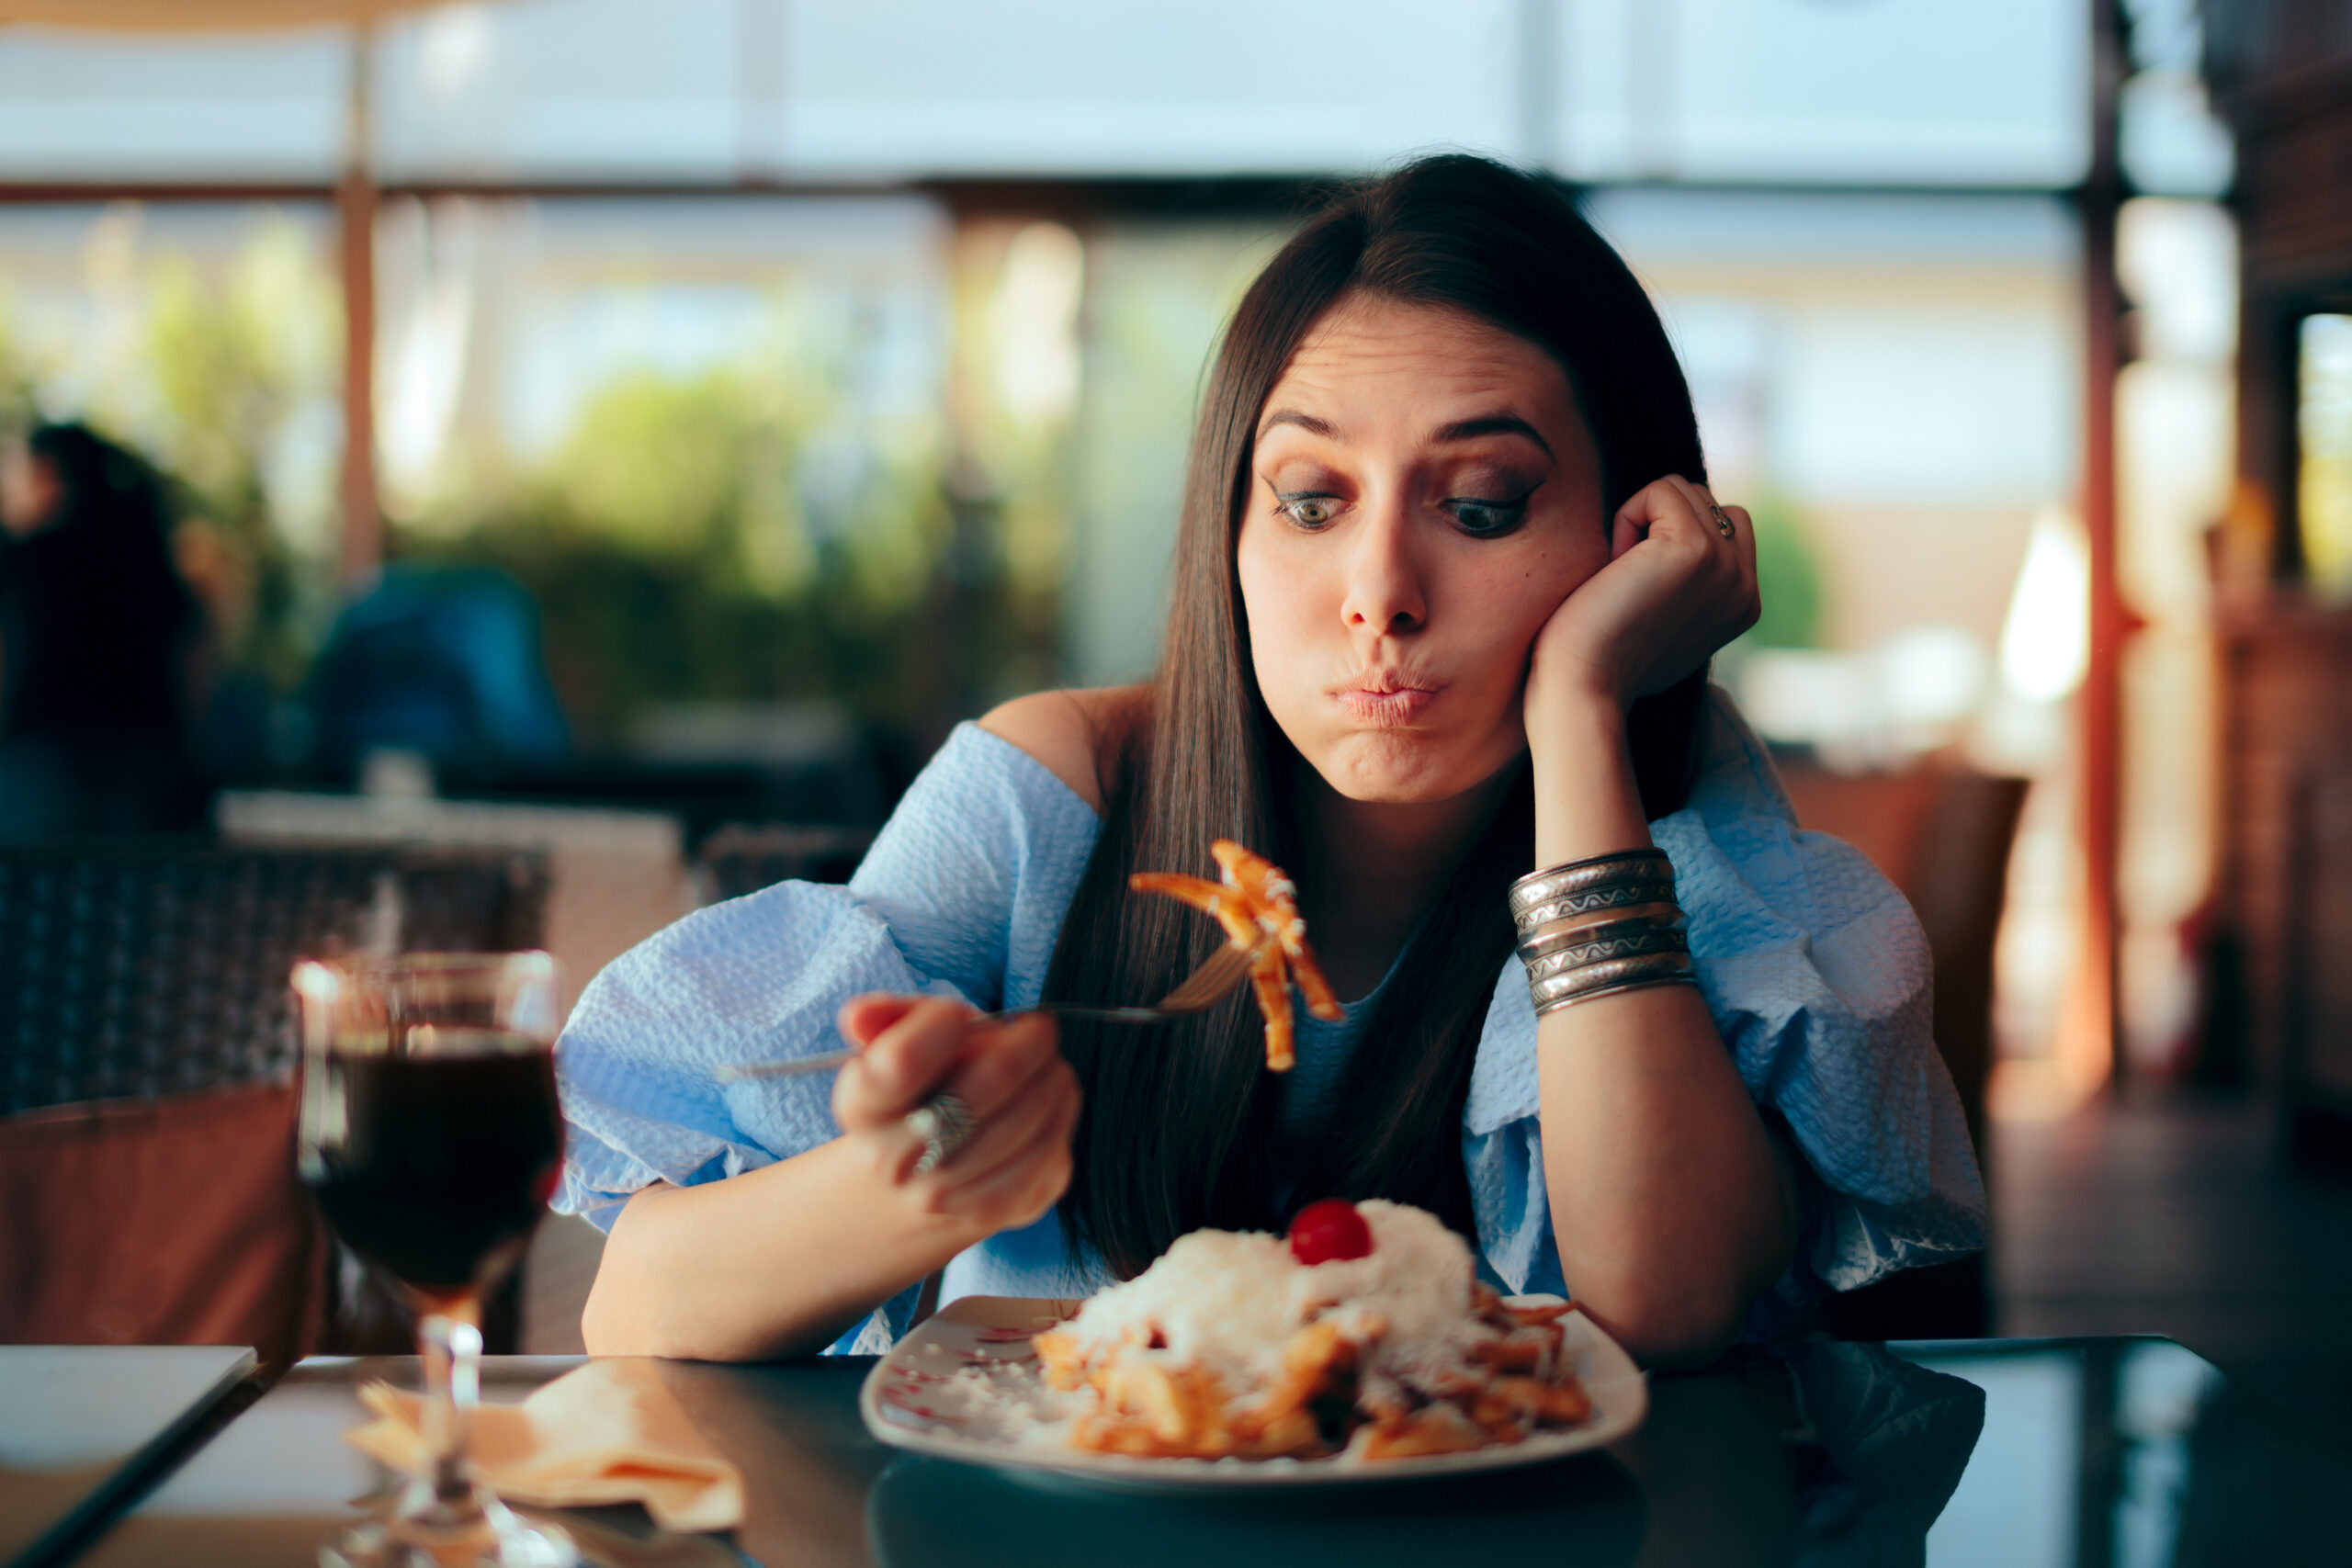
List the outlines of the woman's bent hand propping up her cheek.
{"label": "woman's bent hand propping up her cheek", "polygon": [[1630,705],[1665,691],[1757,623],[1757,536],[1745,508],[1722,508],[1682,475],[1642,489],[1611,522],[1609,564],[1536,632],[1526,717],[1562,701]]}

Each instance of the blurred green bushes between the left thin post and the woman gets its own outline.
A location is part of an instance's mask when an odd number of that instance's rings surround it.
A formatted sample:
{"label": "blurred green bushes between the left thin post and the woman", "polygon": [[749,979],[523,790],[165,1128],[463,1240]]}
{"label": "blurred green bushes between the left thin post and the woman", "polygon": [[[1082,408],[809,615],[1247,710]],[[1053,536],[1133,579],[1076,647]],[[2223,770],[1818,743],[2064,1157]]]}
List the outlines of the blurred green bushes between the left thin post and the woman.
{"label": "blurred green bushes between the left thin post and the woman", "polygon": [[936,726],[962,679],[1030,654],[1051,616],[997,569],[950,581],[929,442],[863,447],[811,501],[821,414],[743,367],[633,371],[586,400],[541,468],[397,527],[393,550],[532,590],[588,750],[626,748],[668,701],[823,696],[870,724]]}

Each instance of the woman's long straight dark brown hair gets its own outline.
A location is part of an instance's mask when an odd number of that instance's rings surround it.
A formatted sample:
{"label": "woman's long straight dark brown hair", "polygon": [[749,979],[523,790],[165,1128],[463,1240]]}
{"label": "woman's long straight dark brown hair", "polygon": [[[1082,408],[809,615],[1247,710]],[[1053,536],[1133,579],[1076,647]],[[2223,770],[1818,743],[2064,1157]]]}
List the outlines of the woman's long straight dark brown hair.
{"label": "woman's long straight dark brown hair", "polygon": [[[1171,900],[1131,898],[1129,872],[1214,877],[1216,837],[1277,863],[1298,844],[1291,780],[1308,764],[1268,717],[1251,672],[1235,536],[1265,397],[1301,339],[1355,292],[1468,310],[1548,348],[1592,428],[1604,517],[1661,475],[1705,482],[1691,395],[1658,313],[1566,193],[1465,155],[1338,190],[1242,296],[1216,355],[1192,433],[1160,672],[1103,722],[1103,830],[1061,926],[1049,999],[1155,997],[1221,940]],[[1700,670],[1632,708],[1649,816],[1677,809],[1689,790],[1703,693]],[[1517,769],[1390,976],[1301,1201],[1388,1197],[1472,1232],[1463,1098],[1512,947],[1503,896],[1534,867],[1534,792],[1524,762]],[[1065,1025],[1063,1051],[1087,1091],[1061,1204],[1073,1244],[1134,1276],[1202,1225],[1279,1229],[1277,1093],[1247,987],[1150,1032]]]}

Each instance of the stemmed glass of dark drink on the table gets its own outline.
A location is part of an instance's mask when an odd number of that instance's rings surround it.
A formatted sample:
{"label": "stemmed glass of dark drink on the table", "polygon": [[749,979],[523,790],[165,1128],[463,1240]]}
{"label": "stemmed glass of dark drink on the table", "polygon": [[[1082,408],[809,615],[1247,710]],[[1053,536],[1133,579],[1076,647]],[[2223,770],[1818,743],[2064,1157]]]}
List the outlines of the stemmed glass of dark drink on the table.
{"label": "stemmed glass of dark drink on the table", "polygon": [[546,952],[412,952],[294,966],[296,1161],[343,1241],[416,1309],[430,1465],[329,1568],[564,1568],[468,1465],[482,1300],[515,1267],[562,1164],[557,966]]}

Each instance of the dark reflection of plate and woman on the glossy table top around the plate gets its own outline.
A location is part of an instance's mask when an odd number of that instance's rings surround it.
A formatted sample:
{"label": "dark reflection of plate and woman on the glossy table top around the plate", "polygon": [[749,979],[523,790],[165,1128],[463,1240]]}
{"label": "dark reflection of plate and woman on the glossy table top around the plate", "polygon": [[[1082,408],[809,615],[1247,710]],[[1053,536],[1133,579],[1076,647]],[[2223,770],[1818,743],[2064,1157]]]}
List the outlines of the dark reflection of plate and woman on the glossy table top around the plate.
{"label": "dark reflection of plate and woman on the glossy table top around the plate", "polygon": [[[1604,1455],[1461,1481],[1127,1495],[903,1458],[866,1507],[875,1563],[1903,1563],[1959,1483],[1978,1387],[1867,1345],[1658,1378]],[[757,1552],[755,1552],[757,1556]]]}

